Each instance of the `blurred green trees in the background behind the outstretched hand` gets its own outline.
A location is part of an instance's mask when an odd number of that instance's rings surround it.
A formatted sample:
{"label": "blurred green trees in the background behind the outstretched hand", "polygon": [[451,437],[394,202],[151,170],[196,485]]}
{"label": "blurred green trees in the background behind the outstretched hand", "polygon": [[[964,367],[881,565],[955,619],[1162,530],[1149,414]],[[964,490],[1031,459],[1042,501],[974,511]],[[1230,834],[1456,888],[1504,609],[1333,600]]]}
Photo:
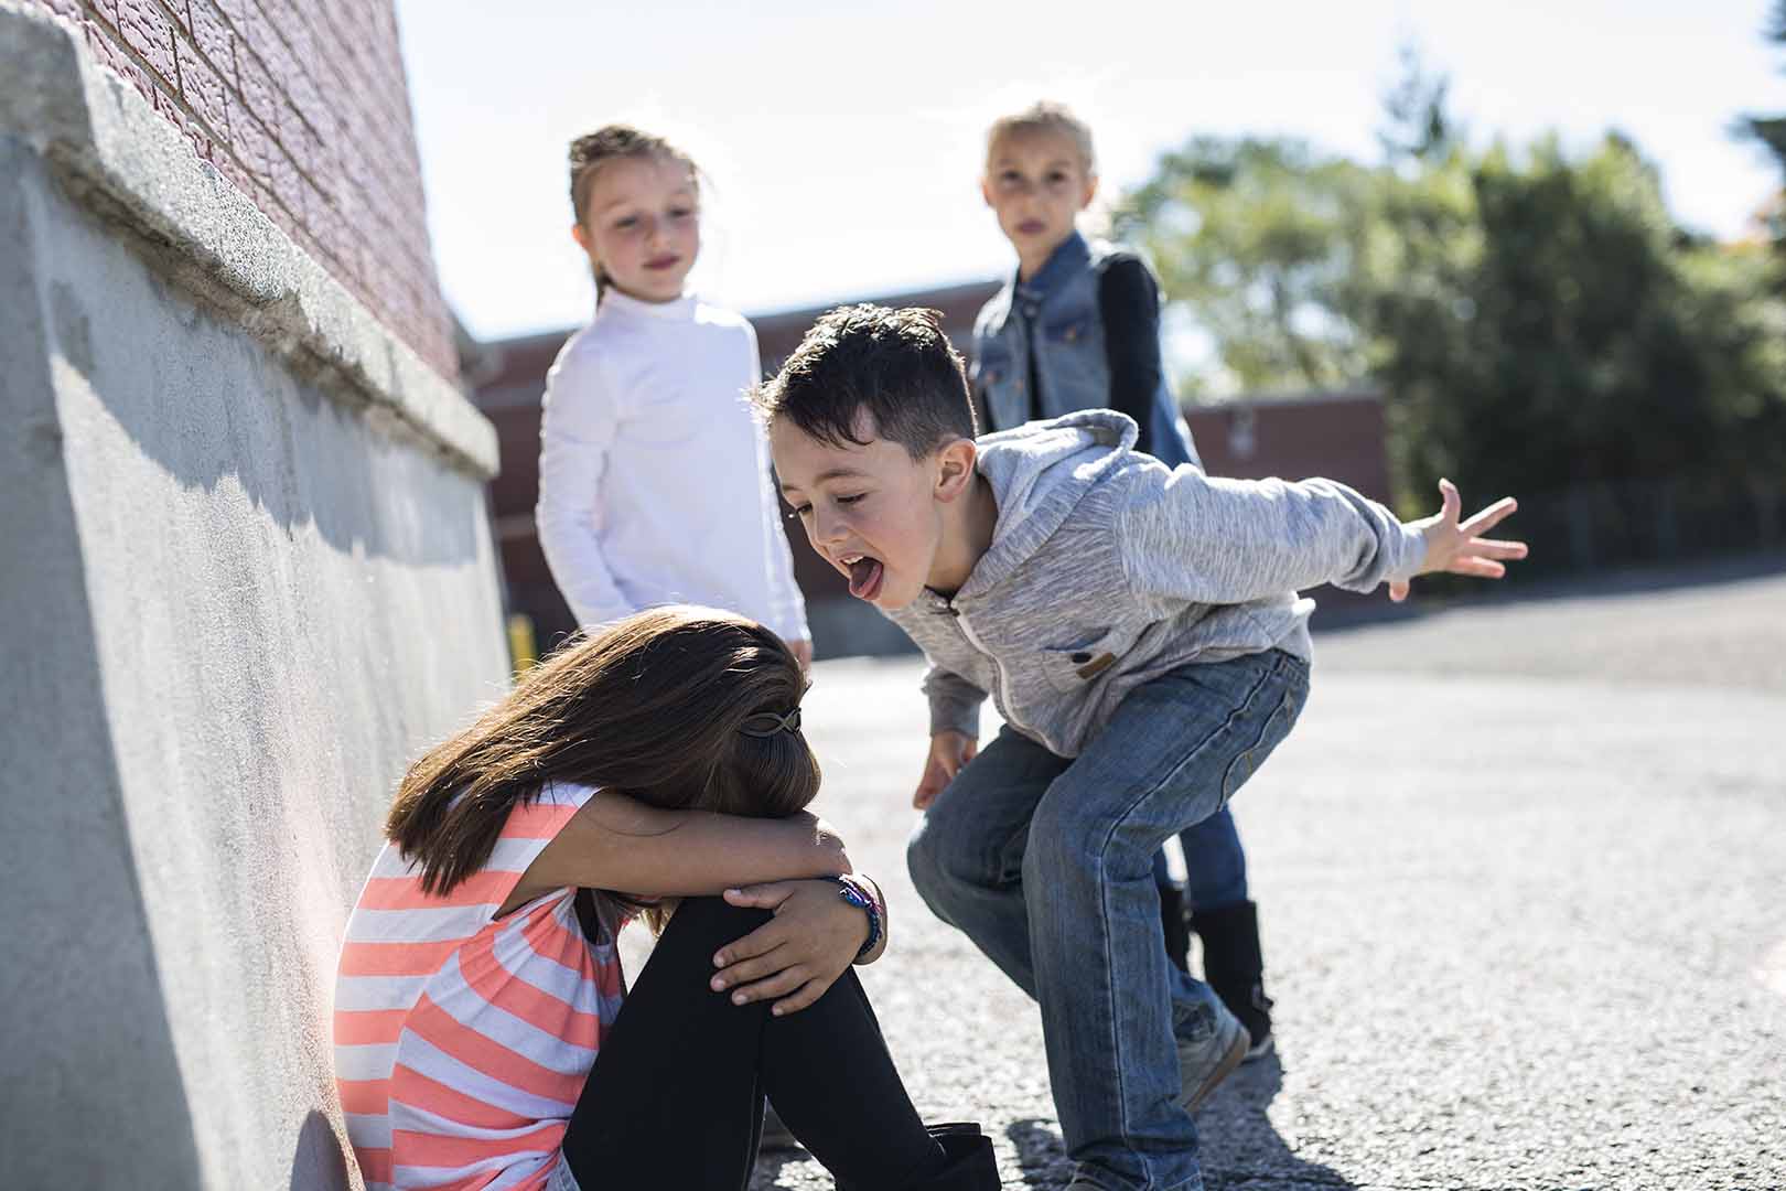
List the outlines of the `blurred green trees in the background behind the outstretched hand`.
{"label": "blurred green trees in the background behind the outstretched hand", "polygon": [[[1782,0],[1786,11],[1786,0]],[[1443,96],[1443,86],[1427,84]],[[1422,114],[1425,111],[1425,114]],[[1786,473],[1765,250],[1698,243],[1622,136],[1470,152],[1415,102],[1382,166],[1197,139],[1123,218],[1243,391],[1373,382],[1398,496]],[[1407,120],[1400,121],[1407,125]]]}

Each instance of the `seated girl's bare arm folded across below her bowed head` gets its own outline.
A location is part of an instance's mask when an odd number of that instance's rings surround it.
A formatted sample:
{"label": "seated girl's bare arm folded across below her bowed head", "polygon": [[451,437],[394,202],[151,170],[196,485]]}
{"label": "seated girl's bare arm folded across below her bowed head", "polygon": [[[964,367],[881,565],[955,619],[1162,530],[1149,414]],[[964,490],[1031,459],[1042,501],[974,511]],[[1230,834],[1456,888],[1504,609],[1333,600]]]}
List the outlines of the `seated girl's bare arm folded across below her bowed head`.
{"label": "seated girl's bare arm folded across below her bowed head", "polygon": [[754,820],[663,811],[598,789],[527,866],[504,911],[573,886],[643,898],[713,896],[741,886],[847,871],[843,841],[807,812]]}

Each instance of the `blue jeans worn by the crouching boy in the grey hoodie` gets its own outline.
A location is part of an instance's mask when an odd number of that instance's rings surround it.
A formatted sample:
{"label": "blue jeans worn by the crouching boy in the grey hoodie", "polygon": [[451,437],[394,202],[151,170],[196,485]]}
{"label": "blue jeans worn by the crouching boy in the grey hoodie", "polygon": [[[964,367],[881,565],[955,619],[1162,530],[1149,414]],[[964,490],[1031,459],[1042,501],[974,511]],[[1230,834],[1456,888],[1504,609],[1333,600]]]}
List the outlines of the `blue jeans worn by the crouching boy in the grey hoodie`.
{"label": "blue jeans worn by the crouching boy in the grey hoodie", "polygon": [[1202,1187],[1175,1041],[1218,1002],[1159,946],[1154,854],[1227,805],[1307,689],[1270,650],[1136,687],[1072,761],[1004,729],[907,846],[936,916],[1039,1004],[1066,1152],[1113,1191]]}

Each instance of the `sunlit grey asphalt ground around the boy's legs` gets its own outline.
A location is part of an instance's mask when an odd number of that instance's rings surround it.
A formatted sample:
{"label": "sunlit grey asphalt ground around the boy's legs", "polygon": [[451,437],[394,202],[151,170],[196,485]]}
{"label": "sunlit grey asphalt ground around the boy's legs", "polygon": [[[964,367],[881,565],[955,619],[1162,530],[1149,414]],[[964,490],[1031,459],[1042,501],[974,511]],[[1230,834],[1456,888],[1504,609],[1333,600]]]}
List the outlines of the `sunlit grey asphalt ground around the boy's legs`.
{"label": "sunlit grey asphalt ground around the boy's legs", "polygon": [[[1236,800],[1281,1057],[1200,1114],[1209,1187],[1786,1187],[1786,559],[1709,577],[1318,641]],[[1032,1005],[906,879],[916,679],[825,662],[807,704],[895,904],[864,982],[920,1109],[1064,1187]]]}

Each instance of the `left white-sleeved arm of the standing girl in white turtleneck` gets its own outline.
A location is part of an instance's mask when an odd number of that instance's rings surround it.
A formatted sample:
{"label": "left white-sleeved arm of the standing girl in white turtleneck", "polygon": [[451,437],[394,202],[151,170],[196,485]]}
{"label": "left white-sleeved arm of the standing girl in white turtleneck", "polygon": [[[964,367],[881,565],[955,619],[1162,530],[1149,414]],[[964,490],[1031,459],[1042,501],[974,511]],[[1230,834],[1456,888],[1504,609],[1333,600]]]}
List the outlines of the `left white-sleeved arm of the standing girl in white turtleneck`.
{"label": "left white-sleeved arm of the standing girl in white turtleneck", "polygon": [[552,366],[539,420],[539,504],[534,523],[552,580],[579,625],[632,612],[602,557],[602,473],[620,427],[618,395],[595,361],[568,354]]}

